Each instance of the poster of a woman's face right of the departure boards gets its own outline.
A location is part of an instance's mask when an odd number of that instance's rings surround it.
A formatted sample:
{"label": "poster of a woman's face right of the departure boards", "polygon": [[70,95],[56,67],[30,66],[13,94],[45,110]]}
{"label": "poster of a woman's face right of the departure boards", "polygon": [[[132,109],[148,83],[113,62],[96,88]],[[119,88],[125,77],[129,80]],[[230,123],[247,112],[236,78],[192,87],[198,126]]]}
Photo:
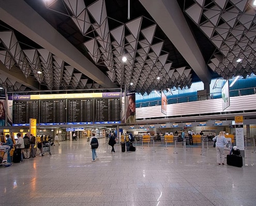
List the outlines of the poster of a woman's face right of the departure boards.
{"label": "poster of a woman's face right of the departure boards", "polygon": [[135,92],[128,91],[124,98],[125,99],[124,99],[124,109],[122,113],[122,123],[136,123]]}

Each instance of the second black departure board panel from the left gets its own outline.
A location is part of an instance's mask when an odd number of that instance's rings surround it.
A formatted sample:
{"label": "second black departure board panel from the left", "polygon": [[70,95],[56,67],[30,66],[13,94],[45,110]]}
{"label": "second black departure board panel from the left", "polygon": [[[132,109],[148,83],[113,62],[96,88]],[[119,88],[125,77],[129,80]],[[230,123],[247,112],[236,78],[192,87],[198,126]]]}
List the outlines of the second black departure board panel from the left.
{"label": "second black departure board panel from the left", "polygon": [[40,100],[40,125],[63,125],[66,122],[66,99]]}

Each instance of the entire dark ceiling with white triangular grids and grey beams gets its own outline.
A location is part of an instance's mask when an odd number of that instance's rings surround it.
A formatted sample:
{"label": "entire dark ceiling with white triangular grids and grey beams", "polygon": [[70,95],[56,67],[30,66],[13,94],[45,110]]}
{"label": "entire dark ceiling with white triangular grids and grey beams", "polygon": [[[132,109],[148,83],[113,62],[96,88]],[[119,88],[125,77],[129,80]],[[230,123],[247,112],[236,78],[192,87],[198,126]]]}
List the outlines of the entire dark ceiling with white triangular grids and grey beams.
{"label": "entire dark ceiling with white triangular grids and grey beams", "polygon": [[144,95],[256,73],[252,1],[129,3],[128,19],[128,1],[0,1],[1,87]]}

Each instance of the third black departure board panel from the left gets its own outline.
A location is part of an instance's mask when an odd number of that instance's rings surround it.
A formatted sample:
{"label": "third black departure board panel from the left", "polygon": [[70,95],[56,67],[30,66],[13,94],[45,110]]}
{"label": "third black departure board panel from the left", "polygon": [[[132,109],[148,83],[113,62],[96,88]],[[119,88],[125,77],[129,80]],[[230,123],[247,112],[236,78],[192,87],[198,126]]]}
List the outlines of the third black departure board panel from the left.
{"label": "third black departure board panel from the left", "polygon": [[93,124],[93,99],[67,99],[67,124]]}

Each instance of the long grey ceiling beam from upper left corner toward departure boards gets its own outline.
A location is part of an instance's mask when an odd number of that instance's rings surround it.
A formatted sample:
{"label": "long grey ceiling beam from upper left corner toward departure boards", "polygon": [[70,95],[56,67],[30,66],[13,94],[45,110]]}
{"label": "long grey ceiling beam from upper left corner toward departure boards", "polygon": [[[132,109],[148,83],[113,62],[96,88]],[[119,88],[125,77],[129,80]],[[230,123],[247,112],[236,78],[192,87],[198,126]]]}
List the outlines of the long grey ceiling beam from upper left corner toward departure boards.
{"label": "long grey ceiling beam from upper left corner toward departure boards", "polygon": [[0,0],[0,19],[104,88],[117,88],[108,76],[44,20],[25,1]]}

